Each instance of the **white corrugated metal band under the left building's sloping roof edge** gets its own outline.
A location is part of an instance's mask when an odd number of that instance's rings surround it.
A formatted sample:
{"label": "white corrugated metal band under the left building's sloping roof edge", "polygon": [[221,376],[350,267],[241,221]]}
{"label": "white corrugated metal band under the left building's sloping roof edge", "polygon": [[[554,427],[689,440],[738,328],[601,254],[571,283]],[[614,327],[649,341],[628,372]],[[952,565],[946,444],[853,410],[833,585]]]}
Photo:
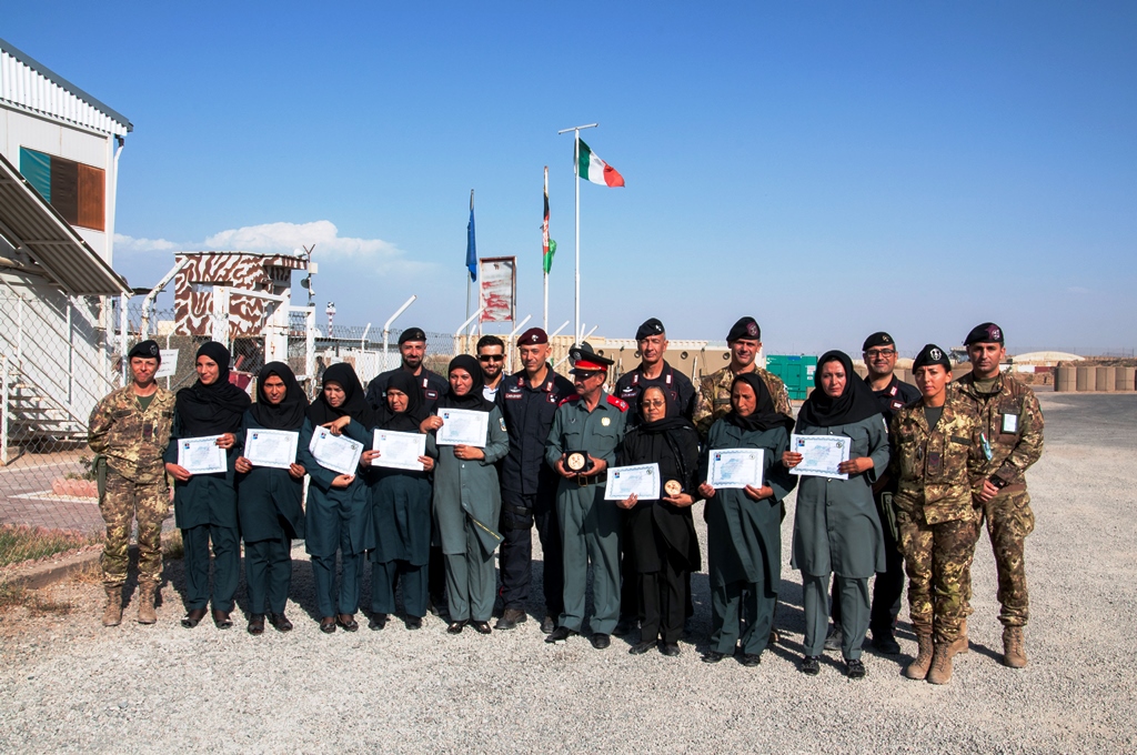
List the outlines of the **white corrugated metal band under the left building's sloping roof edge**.
{"label": "white corrugated metal band under the left building's sloping roof edge", "polygon": [[133,124],[31,56],[0,39],[0,101],[107,134],[126,134]]}

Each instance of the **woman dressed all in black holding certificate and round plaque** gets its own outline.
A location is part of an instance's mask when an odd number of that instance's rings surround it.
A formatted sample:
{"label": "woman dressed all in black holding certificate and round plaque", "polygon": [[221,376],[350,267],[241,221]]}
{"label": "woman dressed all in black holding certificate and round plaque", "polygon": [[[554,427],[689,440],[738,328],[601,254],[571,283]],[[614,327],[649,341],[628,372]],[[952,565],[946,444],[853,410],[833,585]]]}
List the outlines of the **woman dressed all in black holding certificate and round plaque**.
{"label": "woman dressed all in black holding certificate and round plaque", "polygon": [[621,466],[658,464],[662,486],[658,500],[640,500],[632,495],[619,501],[626,509],[624,557],[637,582],[639,606],[640,640],[629,650],[632,655],[657,645],[664,655],[679,655],[688,578],[702,564],[691,518],[699,435],[695,425],[678,416],[678,407],[670,404],[670,397],[656,385],[641,391],[639,415],[644,421],[628,431],[616,454]]}

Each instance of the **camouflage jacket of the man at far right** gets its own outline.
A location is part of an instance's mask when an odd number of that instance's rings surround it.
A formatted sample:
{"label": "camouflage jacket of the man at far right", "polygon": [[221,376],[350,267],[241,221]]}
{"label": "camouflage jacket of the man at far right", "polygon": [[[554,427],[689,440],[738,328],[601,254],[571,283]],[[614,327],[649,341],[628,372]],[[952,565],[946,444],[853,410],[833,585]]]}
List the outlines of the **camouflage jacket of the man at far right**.
{"label": "camouflage jacket of the man at far right", "polygon": [[999,375],[991,393],[980,393],[974,382],[966,374],[948,390],[954,389],[979,415],[986,463],[976,478],[997,476],[1006,484],[1026,484],[1027,468],[1043,455],[1043,410],[1038,398],[1012,375]]}

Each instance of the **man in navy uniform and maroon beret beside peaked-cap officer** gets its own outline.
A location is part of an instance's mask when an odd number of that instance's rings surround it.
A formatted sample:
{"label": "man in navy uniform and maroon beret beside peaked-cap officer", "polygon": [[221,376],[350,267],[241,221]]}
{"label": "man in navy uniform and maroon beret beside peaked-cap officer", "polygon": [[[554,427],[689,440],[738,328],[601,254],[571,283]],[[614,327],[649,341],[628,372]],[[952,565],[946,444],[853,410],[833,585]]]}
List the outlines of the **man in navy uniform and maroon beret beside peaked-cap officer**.
{"label": "man in navy uniform and maroon beret beside peaked-cap officer", "polygon": [[509,433],[509,454],[501,461],[500,530],[505,540],[498,551],[505,611],[496,629],[513,629],[525,621],[532,580],[530,531],[536,523],[545,554],[541,630],[548,634],[564,609],[564,571],[557,525],[558,476],[545,463],[545,441],[557,406],[575,389],[549,366],[549,337],[540,327],[521,334],[517,351],[523,370],[506,375],[496,397]]}

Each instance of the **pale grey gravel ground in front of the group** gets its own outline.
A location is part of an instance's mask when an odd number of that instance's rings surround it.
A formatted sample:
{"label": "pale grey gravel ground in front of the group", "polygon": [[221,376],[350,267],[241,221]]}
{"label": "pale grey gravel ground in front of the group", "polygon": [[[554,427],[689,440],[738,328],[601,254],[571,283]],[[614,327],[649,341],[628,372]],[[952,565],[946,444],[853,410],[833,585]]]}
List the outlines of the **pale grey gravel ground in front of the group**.
{"label": "pale grey gravel ground in front of the group", "polygon": [[[802,590],[788,567],[782,644],[746,669],[699,662],[706,574],[695,578],[694,644],[678,658],[633,657],[622,640],[605,652],[581,638],[546,645],[532,617],[485,638],[448,636],[433,616],[418,632],[393,621],[381,632],[364,624],[324,636],[308,613],[310,572],[297,548],[290,634],[250,637],[240,621],[227,632],[181,628],[176,562],[155,627],[103,629],[92,584],[53,588],[70,614],[0,615],[0,750],[1134,752],[1137,682],[1123,632],[1137,611],[1137,396],[1040,400],[1047,446],[1029,478],[1038,524],[1027,541],[1034,620],[1022,671],[997,661],[986,537],[973,570],[972,652],[947,687],[901,675],[915,649],[906,621],[905,655],[866,653],[868,679],[847,680],[836,655],[820,677],[800,674]],[[705,534],[700,512],[696,520]]]}

